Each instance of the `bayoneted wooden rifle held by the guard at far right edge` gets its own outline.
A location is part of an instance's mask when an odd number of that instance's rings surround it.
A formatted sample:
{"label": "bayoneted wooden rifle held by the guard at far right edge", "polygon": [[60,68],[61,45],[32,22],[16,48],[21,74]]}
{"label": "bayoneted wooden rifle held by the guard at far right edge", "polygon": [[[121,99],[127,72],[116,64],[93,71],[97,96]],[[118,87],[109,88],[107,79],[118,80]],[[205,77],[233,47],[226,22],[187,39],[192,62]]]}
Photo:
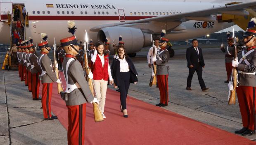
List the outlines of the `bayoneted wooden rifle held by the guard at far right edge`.
{"label": "bayoneted wooden rifle held by the guard at far right edge", "polygon": [[[233,41],[235,44],[235,60],[237,60],[237,37],[235,37],[235,28],[233,26]],[[233,90],[229,91],[228,93],[228,104],[229,105],[235,105],[235,88],[237,87],[237,69],[233,67],[232,69],[232,76],[231,76],[231,83],[232,83],[232,78],[233,78]]]}

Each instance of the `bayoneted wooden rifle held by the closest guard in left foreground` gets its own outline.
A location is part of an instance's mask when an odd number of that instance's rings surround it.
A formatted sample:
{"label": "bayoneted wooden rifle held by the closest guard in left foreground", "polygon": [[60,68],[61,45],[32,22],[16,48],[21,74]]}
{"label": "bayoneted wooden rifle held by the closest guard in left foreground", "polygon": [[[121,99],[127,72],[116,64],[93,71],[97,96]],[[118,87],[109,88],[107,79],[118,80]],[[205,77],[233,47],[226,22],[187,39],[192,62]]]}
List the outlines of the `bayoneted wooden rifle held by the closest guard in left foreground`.
{"label": "bayoneted wooden rifle held by the closest guard in left foreground", "polygon": [[[84,65],[84,69],[85,69],[85,73],[86,73],[86,80],[88,82],[88,85],[89,85],[89,88],[92,92],[92,95],[94,96],[94,84],[93,84],[93,81],[91,78],[88,77],[88,74],[90,74],[91,72],[91,69],[89,67],[89,64],[88,64],[88,57],[87,57],[87,51],[88,51],[88,35],[87,35],[87,32],[85,30],[85,41],[83,42],[83,48],[84,48],[84,58],[85,58],[85,65]],[[97,96],[97,92],[95,91],[96,93],[96,96]],[[94,121],[95,122],[100,122],[100,121],[103,121],[103,117],[101,115],[101,112],[100,112],[100,109],[99,109],[99,105],[97,103],[94,103],[92,102],[92,105],[93,105],[93,113],[94,113]]]}

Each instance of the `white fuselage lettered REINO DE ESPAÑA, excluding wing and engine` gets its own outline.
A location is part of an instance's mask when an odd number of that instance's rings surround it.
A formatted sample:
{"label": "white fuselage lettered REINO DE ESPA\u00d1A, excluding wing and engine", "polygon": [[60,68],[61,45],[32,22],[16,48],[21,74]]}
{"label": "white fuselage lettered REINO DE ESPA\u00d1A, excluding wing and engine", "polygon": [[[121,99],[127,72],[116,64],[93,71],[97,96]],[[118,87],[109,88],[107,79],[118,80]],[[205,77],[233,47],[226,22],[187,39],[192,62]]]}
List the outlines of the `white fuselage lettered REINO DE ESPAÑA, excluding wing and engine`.
{"label": "white fuselage lettered REINO DE ESPA\u00d1A, excluding wing and engine", "polygon": [[[11,0],[11,2],[13,5],[22,4],[26,7],[26,12],[28,12],[29,17],[29,27],[26,27],[26,39],[32,37],[34,43],[39,43],[40,41],[43,41],[40,38],[40,33],[44,32],[48,35],[48,42],[51,45],[54,42],[54,38],[56,39],[57,44],[59,44],[60,39],[71,36],[67,29],[68,20],[74,20],[76,23],[76,27],[78,28],[76,30],[76,37],[78,41],[84,41],[85,30],[87,30],[90,39],[93,39],[95,42],[97,40],[97,32],[92,32],[90,29],[98,25],[120,23],[122,21],[134,21],[143,18],[164,16],[167,14],[173,15],[213,8],[213,5],[222,5],[209,2],[143,2],[128,0],[94,0],[90,2],[78,0],[25,0],[21,2],[18,0]],[[50,7],[47,4],[51,4]],[[234,23],[190,20],[181,23],[181,25],[185,26],[184,30],[167,32],[166,37],[170,41],[201,37],[228,28],[234,25]],[[168,27],[168,23],[148,26],[152,28],[147,28],[147,24],[140,24],[139,26],[135,25],[134,27],[139,27],[142,30],[143,28],[146,28],[147,30],[154,31],[154,28],[156,27],[163,29],[164,27]],[[0,43],[8,44],[10,27],[6,22],[0,22],[0,34]]]}

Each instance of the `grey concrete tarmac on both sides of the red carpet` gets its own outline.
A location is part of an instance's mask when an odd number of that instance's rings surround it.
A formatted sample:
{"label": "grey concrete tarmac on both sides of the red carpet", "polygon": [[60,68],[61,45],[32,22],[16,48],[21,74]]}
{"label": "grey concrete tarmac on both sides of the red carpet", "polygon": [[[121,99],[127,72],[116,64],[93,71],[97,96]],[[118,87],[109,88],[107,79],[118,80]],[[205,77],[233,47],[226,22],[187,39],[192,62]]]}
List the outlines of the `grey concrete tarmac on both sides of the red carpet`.
{"label": "grey concrete tarmac on both sides of the red carpet", "polygon": [[[203,78],[208,92],[202,92],[194,74],[192,90],[186,90],[188,68],[185,49],[175,50],[170,58],[169,104],[164,107],[180,115],[234,133],[242,128],[238,102],[228,105],[225,53],[220,48],[203,48]],[[159,103],[159,89],[149,87],[151,69],[147,65],[147,49],[132,58],[138,73],[137,85],[130,85],[128,95],[149,104]],[[32,101],[17,70],[0,70],[0,145],[64,145],[66,129],[58,120],[43,120],[41,101]],[[113,86],[109,88],[114,89]],[[170,120],[171,121],[171,120]],[[247,137],[256,140],[256,135]],[[171,144],[171,143],[170,143]]]}

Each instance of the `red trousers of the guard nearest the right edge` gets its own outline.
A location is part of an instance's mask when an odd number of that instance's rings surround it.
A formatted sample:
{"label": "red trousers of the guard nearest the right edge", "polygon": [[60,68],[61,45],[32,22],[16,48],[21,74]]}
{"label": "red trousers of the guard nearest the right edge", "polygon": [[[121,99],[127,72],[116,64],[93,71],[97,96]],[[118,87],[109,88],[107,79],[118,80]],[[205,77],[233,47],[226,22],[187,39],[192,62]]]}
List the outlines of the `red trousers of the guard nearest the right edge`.
{"label": "red trousers of the guard nearest the right edge", "polygon": [[236,88],[237,99],[242,116],[243,127],[256,130],[255,87],[238,86]]}

